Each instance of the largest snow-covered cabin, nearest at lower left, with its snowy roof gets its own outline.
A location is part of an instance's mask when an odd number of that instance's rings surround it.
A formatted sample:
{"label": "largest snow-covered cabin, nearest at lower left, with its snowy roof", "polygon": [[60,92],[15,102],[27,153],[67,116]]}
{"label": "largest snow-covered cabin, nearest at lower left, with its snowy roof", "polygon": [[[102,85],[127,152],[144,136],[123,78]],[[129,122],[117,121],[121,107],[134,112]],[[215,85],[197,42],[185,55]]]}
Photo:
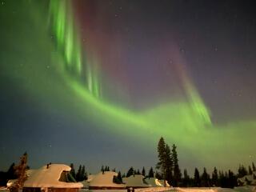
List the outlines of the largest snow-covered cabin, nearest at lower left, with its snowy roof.
{"label": "largest snow-covered cabin, nearest at lower left, with its snowy roof", "polygon": [[70,166],[50,164],[34,170],[24,182],[23,192],[78,192],[82,183],[70,175]]}

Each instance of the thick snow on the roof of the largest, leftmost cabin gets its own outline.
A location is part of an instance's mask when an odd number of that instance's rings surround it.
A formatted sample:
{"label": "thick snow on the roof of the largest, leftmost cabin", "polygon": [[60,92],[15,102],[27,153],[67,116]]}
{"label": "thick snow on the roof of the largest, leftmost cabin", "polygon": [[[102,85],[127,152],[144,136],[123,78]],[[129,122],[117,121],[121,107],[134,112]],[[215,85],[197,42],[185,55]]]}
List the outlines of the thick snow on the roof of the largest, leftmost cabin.
{"label": "thick snow on the roof of the largest, leftmost cabin", "polygon": [[58,181],[63,171],[70,170],[70,166],[63,164],[51,164],[48,168],[42,166],[42,168],[32,171],[24,183],[24,187],[81,188],[82,183],[79,182]]}

